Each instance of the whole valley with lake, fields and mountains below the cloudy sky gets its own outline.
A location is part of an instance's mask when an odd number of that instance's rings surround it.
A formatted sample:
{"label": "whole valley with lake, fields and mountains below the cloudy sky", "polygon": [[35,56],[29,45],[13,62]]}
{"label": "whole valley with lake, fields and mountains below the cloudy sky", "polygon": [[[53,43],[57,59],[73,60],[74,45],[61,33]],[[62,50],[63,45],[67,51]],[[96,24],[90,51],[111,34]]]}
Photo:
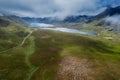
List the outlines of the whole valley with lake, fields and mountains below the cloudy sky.
{"label": "whole valley with lake, fields and mountains below the cloudy sky", "polygon": [[64,20],[0,15],[0,80],[120,80],[118,10]]}

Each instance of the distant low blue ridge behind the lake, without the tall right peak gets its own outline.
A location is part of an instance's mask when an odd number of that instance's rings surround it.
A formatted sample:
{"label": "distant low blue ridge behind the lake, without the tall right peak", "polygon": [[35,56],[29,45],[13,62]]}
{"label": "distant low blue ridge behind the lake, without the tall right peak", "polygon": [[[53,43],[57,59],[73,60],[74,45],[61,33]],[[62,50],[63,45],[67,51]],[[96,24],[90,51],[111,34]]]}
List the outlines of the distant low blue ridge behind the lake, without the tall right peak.
{"label": "distant low blue ridge behind the lake, without the tall right peak", "polygon": [[45,17],[45,18],[31,18],[31,17],[23,17],[22,19],[26,22],[33,23],[78,23],[78,22],[88,22],[92,19],[92,16],[86,15],[78,15],[78,16],[68,16],[63,20],[59,20],[58,18]]}

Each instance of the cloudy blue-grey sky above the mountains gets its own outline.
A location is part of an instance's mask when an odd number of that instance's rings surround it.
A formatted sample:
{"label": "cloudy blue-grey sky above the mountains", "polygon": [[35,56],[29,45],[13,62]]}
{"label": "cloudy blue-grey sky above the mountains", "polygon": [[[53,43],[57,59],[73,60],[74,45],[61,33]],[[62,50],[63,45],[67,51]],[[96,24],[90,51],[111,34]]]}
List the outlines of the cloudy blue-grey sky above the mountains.
{"label": "cloudy blue-grey sky above the mountains", "polygon": [[24,17],[96,15],[120,0],[0,0],[0,11]]}

